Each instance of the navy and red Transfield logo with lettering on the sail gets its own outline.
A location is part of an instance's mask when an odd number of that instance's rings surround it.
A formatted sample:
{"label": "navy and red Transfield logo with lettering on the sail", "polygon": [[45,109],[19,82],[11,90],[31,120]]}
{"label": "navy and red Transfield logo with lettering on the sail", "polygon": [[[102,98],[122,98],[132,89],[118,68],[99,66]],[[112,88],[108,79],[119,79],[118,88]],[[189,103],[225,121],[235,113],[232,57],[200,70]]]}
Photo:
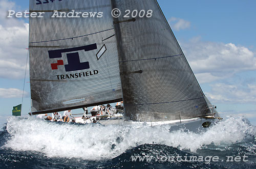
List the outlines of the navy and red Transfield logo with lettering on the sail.
{"label": "navy and red Transfield logo with lettering on the sail", "polygon": [[[68,61],[68,64],[64,65],[63,60],[57,60],[57,63],[51,64],[51,68],[52,70],[57,70],[59,66],[63,65],[65,66],[66,72],[90,69],[89,62],[80,62],[78,51],[84,50],[86,52],[94,49],[97,49],[96,43],[87,45],[87,46],[80,46],[80,47],[74,47],[74,48],[68,48],[68,49],[49,50],[48,53],[49,53],[50,59],[62,58],[62,53],[67,53],[66,55],[67,55],[67,61]],[[91,76],[95,74],[98,74],[98,70],[93,70],[88,72],[79,72],[74,74],[60,74],[56,76],[59,80],[59,79],[85,77],[85,76]]]}

